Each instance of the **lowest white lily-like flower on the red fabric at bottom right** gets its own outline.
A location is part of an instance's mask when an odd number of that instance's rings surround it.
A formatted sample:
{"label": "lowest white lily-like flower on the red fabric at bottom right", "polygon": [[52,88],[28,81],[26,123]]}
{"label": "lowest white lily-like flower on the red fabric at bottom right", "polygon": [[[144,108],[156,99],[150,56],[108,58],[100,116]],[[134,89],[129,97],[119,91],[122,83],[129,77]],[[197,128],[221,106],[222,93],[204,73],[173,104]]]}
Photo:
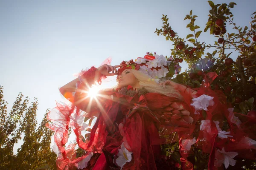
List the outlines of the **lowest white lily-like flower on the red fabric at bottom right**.
{"label": "lowest white lily-like flower on the red fabric at bottom right", "polygon": [[222,150],[217,150],[215,154],[216,167],[220,167],[221,164],[224,164],[226,169],[228,168],[229,165],[235,166],[236,161],[233,158],[238,155],[237,152],[225,152],[224,147],[222,147]]}

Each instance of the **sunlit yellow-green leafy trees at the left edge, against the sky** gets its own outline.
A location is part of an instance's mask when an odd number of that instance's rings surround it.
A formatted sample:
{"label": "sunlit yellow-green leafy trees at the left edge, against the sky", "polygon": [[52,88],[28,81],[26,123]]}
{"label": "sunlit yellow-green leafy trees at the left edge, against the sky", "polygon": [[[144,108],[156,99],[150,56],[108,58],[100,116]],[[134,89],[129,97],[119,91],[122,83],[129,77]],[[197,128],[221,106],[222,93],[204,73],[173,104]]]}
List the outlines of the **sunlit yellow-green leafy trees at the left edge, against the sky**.
{"label": "sunlit yellow-green leafy trees at the left edge, against the sky", "polygon": [[[45,126],[49,110],[36,129],[36,98],[29,106],[29,98],[23,99],[23,94],[18,94],[9,114],[7,104],[3,99],[3,86],[0,86],[0,169],[55,169],[56,154],[50,148],[53,132]],[[14,154],[13,147],[22,137],[23,144]]]}

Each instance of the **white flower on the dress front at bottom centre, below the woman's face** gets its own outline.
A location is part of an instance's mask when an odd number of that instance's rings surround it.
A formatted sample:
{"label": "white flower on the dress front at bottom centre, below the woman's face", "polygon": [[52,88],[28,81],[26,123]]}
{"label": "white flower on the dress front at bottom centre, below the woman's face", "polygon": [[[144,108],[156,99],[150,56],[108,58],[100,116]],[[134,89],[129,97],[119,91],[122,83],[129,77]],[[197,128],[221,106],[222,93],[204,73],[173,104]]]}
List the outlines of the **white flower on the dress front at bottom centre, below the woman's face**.
{"label": "white flower on the dress front at bottom centre, below the woman's face", "polygon": [[128,151],[125,146],[124,146],[124,142],[121,145],[121,149],[118,150],[117,156],[118,158],[116,159],[116,164],[121,167],[125,165],[126,162],[131,161],[131,154],[132,152]]}

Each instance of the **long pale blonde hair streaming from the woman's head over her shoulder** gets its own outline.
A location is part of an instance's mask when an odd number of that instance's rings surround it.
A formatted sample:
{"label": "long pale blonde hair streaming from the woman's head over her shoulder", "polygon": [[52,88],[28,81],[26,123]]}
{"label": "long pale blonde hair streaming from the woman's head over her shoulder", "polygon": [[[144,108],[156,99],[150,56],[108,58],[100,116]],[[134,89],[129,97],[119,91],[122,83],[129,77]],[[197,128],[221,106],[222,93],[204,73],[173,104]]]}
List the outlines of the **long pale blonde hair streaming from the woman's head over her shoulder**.
{"label": "long pale blonde hair streaming from the woman's head over her shoulder", "polygon": [[177,92],[171,85],[166,85],[166,87],[159,86],[159,83],[156,82],[154,79],[149,77],[148,75],[131,69],[131,72],[134,76],[139,80],[140,87],[144,87],[150,93],[159,93],[164,94],[166,96],[176,97],[177,99],[183,99],[179,92]]}

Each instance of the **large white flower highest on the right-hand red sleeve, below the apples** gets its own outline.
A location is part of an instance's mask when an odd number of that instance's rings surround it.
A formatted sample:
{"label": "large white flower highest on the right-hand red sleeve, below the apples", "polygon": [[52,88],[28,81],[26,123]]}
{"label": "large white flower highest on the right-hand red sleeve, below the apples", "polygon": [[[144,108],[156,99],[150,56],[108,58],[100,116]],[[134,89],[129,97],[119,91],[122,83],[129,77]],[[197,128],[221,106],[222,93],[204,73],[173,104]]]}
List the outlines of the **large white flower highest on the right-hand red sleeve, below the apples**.
{"label": "large white flower highest on the right-hand red sleeve, below the apples", "polygon": [[191,103],[190,105],[195,107],[195,110],[196,110],[195,114],[198,114],[197,111],[201,111],[201,110],[208,111],[207,107],[214,105],[214,101],[212,99],[213,99],[212,96],[207,96],[203,94],[197,98],[192,99],[193,103]]}

